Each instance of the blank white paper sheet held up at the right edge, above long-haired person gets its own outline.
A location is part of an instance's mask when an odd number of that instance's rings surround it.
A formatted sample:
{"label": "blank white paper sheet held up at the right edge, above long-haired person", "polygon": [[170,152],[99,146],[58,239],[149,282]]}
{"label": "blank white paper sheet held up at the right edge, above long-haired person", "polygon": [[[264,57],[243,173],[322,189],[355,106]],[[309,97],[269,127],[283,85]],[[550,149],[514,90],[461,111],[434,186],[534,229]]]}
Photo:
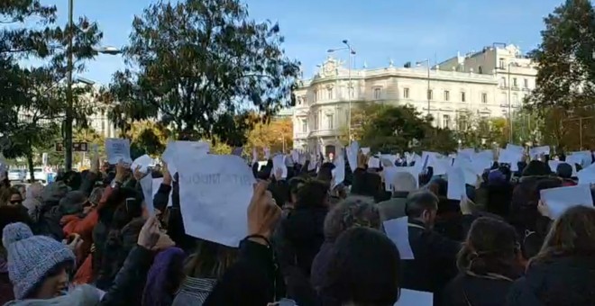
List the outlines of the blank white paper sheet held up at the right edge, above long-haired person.
{"label": "blank white paper sheet held up at the right edge, above long-haired person", "polygon": [[590,196],[590,187],[587,184],[576,186],[544,189],[541,191],[541,200],[550,210],[550,217],[556,219],[572,206],[593,207]]}

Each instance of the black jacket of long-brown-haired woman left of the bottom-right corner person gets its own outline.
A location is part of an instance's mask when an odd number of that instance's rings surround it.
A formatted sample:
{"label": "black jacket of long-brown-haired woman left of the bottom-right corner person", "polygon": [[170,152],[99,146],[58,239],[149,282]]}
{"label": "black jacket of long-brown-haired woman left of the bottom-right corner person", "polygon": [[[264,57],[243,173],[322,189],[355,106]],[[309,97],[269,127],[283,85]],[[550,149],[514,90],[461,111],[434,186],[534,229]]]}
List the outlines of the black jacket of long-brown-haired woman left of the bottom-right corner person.
{"label": "black jacket of long-brown-haired woman left of the bottom-right corner person", "polygon": [[444,288],[441,305],[501,306],[512,284],[506,279],[459,274]]}

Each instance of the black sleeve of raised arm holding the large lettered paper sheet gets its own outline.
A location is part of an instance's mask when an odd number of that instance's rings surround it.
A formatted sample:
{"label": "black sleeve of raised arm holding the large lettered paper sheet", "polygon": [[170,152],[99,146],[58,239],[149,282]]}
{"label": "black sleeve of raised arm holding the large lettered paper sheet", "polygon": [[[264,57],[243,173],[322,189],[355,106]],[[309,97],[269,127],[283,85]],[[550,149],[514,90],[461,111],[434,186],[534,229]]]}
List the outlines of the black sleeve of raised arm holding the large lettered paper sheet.
{"label": "black sleeve of raised arm holding the large lettered paper sheet", "polygon": [[273,251],[250,240],[240,243],[238,261],[225,271],[204,306],[263,306],[283,296]]}

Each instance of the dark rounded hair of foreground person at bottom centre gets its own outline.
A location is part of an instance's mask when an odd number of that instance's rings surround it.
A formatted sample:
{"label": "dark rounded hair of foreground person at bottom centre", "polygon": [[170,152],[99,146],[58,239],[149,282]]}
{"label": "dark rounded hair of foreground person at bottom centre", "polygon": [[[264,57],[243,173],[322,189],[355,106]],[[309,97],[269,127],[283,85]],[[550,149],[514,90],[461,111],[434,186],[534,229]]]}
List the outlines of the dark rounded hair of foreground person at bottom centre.
{"label": "dark rounded hair of foreground person at bottom centre", "polygon": [[400,256],[382,232],[347,229],[337,238],[322,293],[338,302],[392,306],[398,301]]}

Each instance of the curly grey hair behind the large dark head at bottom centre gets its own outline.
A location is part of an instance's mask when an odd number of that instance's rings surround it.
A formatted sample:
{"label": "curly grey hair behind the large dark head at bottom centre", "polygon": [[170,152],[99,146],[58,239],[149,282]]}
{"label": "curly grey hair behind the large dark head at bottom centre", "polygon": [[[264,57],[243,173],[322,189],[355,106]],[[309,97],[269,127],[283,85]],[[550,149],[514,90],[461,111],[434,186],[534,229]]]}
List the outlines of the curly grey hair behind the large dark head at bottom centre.
{"label": "curly grey hair behind the large dark head at bottom centre", "polygon": [[380,213],[373,200],[348,196],[334,205],[325,218],[325,239],[333,242],[343,231],[353,227],[380,229]]}

